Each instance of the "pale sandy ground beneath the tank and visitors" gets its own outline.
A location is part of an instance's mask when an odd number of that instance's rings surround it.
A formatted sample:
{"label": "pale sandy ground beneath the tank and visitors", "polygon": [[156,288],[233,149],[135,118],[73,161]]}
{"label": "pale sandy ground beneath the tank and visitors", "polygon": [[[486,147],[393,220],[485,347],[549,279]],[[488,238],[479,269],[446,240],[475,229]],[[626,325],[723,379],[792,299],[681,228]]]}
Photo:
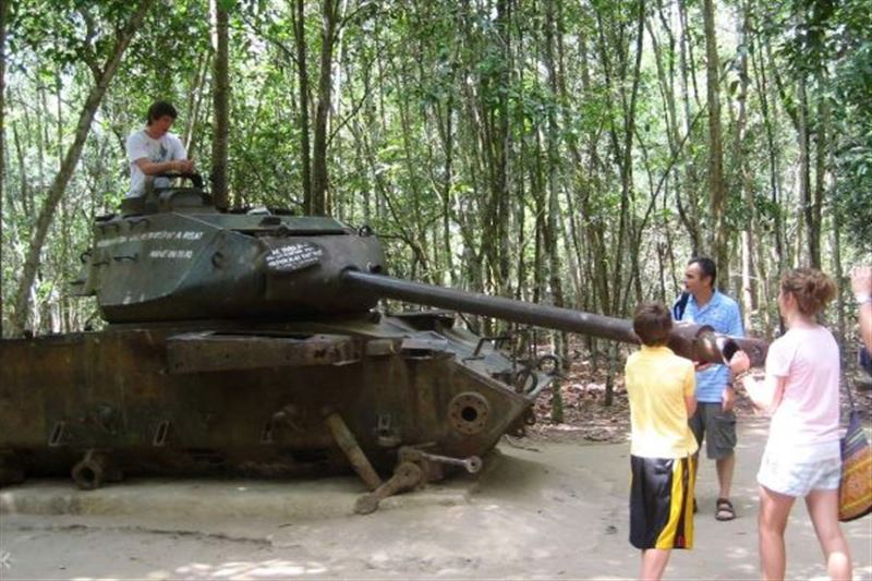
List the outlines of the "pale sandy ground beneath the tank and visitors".
{"label": "pale sandy ground beneath the tank and visitors", "polygon": [[[754,474],[764,439],[762,420],[740,426],[735,521],[715,521],[714,464],[702,464],[697,546],[673,554],[667,578],[758,578]],[[431,485],[367,517],[350,513],[362,489],[352,479],[130,483],[114,486],[116,494],[134,491],[125,500],[89,500],[87,510],[78,495],[102,491],[72,492],[68,483],[7,488],[0,578],[632,578],[639,555],[627,541],[628,445],[521,445],[501,444],[477,479]],[[37,507],[62,515],[19,513],[40,486],[65,491]],[[872,518],[843,530],[855,578],[872,580]],[[789,578],[825,577],[801,503],[787,550]]]}

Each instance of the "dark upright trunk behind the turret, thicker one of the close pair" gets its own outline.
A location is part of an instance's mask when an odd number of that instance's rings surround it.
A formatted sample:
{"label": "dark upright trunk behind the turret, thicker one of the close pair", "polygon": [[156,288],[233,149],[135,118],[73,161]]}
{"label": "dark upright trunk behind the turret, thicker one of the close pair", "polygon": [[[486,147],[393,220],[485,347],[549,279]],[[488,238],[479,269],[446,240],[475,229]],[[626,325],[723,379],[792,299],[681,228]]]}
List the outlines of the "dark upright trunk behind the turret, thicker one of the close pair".
{"label": "dark upright trunk behind the turret, thicker one of the close pair", "polygon": [[308,208],[313,216],[327,215],[327,124],[330,118],[334,40],[339,16],[337,0],[324,0],[322,8],[320,76],[312,156],[312,202]]}

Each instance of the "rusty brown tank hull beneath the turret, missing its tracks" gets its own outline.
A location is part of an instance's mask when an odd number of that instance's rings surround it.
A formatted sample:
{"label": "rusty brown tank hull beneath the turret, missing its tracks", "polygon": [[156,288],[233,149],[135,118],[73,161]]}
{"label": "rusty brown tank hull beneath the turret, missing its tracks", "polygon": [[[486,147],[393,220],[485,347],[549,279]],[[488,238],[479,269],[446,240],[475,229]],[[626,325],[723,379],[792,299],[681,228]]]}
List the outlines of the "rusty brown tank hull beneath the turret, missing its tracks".
{"label": "rusty brown tank hull beneath the turret, missing its tracks", "polygon": [[[382,473],[400,447],[482,456],[548,378],[445,315],[198,322],[4,340],[5,482],[65,475],[88,453],[123,474],[278,476],[347,470],[337,413]],[[107,474],[109,470],[107,469]]]}

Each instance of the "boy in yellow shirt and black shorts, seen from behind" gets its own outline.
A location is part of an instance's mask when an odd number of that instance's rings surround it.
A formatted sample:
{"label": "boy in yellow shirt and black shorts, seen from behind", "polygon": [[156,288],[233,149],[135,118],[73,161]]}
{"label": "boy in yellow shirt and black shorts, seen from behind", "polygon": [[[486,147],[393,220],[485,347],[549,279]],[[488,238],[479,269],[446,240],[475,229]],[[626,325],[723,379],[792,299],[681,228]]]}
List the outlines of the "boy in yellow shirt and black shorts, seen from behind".
{"label": "boy in yellow shirt and black shorts, seen from behind", "polygon": [[688,417],[697,409],[693,363],[666,347],[673,317],[640,304],[633,330],[642,349],[627,359],[630,399],[630,544],[642,550],[640,579],[661,579],[673,548],[693,546],[693,455]]}

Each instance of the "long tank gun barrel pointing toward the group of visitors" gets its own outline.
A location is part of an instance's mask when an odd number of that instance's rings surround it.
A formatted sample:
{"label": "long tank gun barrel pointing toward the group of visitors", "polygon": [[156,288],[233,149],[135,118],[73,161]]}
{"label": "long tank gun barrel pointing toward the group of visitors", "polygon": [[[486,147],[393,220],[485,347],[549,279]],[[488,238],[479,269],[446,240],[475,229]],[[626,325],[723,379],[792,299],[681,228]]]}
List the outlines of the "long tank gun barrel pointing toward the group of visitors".
{"label": "long tank gun barrel pointing toward the group of visitors", "polygon": [[[353,289],[372,292],[385,299],[589,335],[625,343],[639,343],[632,323],[622,318],[447,289],[358,270],[346,270],[342,274],[342,280]],[[752,365],[762,365],[768,346],[759,339],[717,334],[708,326],[677,323],[673,327],[669,347],[681,356],[706,363],[724,363],[741,349],[748,353]]]}

